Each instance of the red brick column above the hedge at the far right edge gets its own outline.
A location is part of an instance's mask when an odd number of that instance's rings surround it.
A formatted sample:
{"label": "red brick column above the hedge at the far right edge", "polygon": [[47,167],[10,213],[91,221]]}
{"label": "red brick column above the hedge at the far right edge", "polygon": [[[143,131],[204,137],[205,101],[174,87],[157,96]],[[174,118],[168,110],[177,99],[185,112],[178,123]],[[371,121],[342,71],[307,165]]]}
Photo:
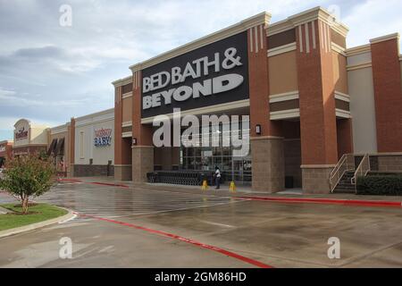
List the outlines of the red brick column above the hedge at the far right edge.
{"label": "red brick column above the hedge at the far right edge", "polygon": [[378,152],[402,152],[399,35],[371,43]]}

